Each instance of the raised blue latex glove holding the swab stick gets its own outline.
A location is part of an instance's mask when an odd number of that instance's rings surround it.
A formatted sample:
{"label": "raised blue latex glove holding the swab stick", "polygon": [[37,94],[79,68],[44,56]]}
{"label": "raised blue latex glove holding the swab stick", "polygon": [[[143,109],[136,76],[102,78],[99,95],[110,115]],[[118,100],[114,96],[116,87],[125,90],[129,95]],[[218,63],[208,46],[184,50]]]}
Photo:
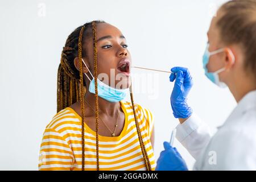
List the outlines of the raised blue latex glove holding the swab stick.
{"label": "raised blue latex glove holding the swab stick", "polygon": [[192,88],[193,80],[187,68],[174,67],[171,69],[170,81],[176,78],[171,94],[171,106],[175,118],[188,118],[192,114],[191,107],[187,104],[187,96]]}

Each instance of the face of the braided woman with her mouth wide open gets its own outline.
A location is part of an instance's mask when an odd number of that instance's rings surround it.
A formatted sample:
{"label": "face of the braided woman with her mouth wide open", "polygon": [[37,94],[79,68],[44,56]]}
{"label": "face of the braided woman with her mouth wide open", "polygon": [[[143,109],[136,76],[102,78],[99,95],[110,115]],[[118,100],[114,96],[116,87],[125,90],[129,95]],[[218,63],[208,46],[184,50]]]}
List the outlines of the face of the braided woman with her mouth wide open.
{"label": "face of the braided woman with her mouth wide open", "polygon": [[[127,49],[125,36],[118,28],[108,23],[97,24],[96,36],[98,78],[113,88],[129,88],[131,56]],[[86,57],[83,59],[94,75],[93,39],[85,40],[82,46],[86,49]],[[91,77],[89,72],[86,74]],[[89,84],[88,78],[85,77],[85,79],[86,84]]]}

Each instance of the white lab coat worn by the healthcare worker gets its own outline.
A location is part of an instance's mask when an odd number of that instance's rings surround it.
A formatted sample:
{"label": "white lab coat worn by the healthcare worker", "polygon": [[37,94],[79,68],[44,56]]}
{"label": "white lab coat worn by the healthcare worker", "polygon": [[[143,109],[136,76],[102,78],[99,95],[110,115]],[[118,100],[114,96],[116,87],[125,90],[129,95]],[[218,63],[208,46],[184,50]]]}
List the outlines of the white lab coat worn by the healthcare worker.
{"label": "white lab coat worn by the healthcare worker", "polygon": [[194,170],[256,170],[256,90],[238,102],[213,137],[195,114],[176,129],[177,140],[196,159]]}

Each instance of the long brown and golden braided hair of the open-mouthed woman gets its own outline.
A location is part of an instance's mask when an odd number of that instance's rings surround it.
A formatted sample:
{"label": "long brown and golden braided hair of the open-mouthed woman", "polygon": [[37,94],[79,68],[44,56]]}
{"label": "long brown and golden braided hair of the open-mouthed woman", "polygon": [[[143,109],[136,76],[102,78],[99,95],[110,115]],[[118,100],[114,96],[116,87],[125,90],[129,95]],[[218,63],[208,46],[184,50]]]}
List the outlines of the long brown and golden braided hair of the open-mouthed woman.
{"label": "long brown and golden braided hair of the open-mouthed woman", "polygon": [[[84,94],[86,92],[85,83],[83,80],[82,72],[82,57],[86,56],[86,51],[82,50],[82,44],[89,36],[93,36],[93,69],[95,81],[95,98],[96,98],[96,157],[97,157],[97,170],[100,170],[99,154],[98,154],[98,119],[99,119],[99,106],[98,106],[98,86],[97,86],[97,42],[96,42],[96,25],[98,23],[105,23],[103,21],[93,21],[85,23],[83,26],[76,28],[69,36],[63,47],[61,53],[60,65],[57,72],[57,112],[65,109],[65,107],[80,101],[81,102],[81,137],[82,137],[82,171],[85,166],[85,136],[84,136]],[[79,71],[76,69],[73,60],[79,57]],[[151,171],[150,160],[147,155],[146,147],[144,146],[141,131],[137,116],[135,114],[133,93],[130,86],[131,104],[135,118],[139,144],[141,146],[142,155],[147,171]]]}

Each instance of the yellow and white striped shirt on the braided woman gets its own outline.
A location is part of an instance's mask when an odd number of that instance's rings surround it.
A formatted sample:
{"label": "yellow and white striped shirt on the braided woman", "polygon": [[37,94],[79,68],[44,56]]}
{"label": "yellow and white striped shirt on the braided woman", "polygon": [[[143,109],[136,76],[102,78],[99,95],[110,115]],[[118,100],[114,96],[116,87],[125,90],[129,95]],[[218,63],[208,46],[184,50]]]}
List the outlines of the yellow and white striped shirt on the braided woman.
{"label": "yellow and white striped shirt on the braided woman", "polygon": [[[100,170],[146,170],[130,102],[120,102],[125,125],[118,137],[99,135]],[[135,105],[139,128],[152,170],[156,162],[150,142],[154,118]],[[46,126],[40,147],[39,170],[81,170],[81,117],[71,107],[57,113]],[[96,170],[96,133],[85,123],[85,170]]]}

